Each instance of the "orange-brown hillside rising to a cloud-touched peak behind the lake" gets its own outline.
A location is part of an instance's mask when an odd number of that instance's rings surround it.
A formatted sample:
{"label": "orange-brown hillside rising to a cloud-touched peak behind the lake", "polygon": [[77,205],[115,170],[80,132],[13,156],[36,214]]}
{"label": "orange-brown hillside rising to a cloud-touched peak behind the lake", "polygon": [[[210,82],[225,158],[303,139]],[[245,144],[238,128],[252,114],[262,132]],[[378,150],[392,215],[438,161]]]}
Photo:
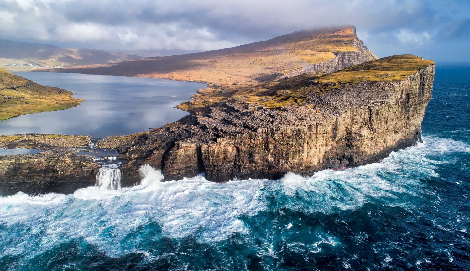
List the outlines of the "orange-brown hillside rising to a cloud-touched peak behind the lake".
{"label": "orange-brown hillside rising to a cloud-touched peak behind the lake", "polygon": [[160,77],[237,88],[237,85],[252,85],[303,72],[333,72],[373,59],[376,56],[360,41],[355,28],[347,26],[297,31],[209,52],[51,71]]}

